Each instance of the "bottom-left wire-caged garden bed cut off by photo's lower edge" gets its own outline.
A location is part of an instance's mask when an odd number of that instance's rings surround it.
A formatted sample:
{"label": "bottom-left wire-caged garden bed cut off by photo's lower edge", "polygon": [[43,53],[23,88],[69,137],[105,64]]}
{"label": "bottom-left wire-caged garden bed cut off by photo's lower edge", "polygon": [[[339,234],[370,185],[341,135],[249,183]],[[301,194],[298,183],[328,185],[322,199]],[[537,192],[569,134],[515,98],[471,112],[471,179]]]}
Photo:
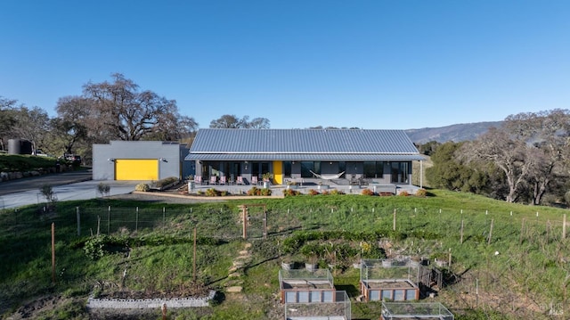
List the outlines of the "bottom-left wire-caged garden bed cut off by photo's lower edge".
{"label": "bottom-left wire-caged garden bed cut off by photo's lower edge", "polygon": [[346,291],[333,291],[330,302],[286,303],[286,320],[350,320],[351,304]]}

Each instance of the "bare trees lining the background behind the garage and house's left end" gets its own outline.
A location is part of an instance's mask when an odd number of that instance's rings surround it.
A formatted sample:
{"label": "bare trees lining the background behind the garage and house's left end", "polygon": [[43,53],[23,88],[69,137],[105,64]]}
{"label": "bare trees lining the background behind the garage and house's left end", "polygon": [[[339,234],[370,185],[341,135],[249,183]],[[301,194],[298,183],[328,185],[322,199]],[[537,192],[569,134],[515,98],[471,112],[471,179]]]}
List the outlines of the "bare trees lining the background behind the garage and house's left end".
{"label": "bare trees lining the background behind the garage and house's left end", "polygon": [[[199,124],[180,114],[175,100],[141,90],[120,73],[111,78],[87,82],[81,95],[61,97],[53,118],[40,107],[30,108],[0,96],[0,150],[7,150],[9,139],[23,139],[33,150],[56,156],[81,153],[89,158],[93,144],[111,140],[191,143]],[[210,127],[268,128],[270,121],[224,115],[212,120]]]}

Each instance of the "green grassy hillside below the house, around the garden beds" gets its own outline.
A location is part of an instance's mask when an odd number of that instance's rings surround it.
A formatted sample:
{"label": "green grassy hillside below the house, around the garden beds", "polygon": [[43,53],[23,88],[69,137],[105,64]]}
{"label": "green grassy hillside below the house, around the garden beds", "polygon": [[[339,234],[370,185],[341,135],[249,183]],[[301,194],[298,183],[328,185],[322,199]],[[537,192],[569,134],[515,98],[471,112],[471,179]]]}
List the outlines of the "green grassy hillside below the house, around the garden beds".
{"label": "green grassy hillside below the house, around the garden beds", "polygon": [[[248,264],[238,271],[238,278],[232,278],[228,270],[246,243],[241,239],[238,208],[244,203],[265,204],[268,239],[249,241]],[[250,207],[249,214],[250,233],[261,237],[262,207]],[[504,318],[542,318],[552,304],[566,308],[570,267],[565,261],[570,261],[570,246],[561,239],[565,214],[565,209],[439,190],[430,191],[426,198],[317,195],[191,205],[100,199],[60,202],[48,214],[36,206],[5,210],[0,214],[0,301],[4,301],[0,311],[7,316],[24,301],[45,294],[85,299],[94,292],[152,291],[167,296],[188,291],[194,285],[192,234],[196,228],[199,283],[222,292],[226,286],[240,285],[243,291],[226,294],[211,308],[172,310],[172,318],[281,318],[277,275],[283,258],[304,262],[301,248],[306,244],[360,250],[362,242],[389,243],[383,249],[388,254],[431,260],[447,258],[451,252],[452,267],[446,275],[452,277],[435,300],[454,311],[456,319],[484,318],[477,315],[489,312]],[[56,283],[51,274],[52,223]],[[91,259],[84,246],[97,230],[111,237],[102,258]],[[286,253],[288,238],[297,243],[296,251]],[[360,294],[359,273],[352,263],[358,256],[342,258],[337,262],[343,267],[334,270],[335,283],[353,299],[353,318],[378,318],[379,303],[355,301]],[[452,283],[453,279],[459,281]],[[87,317],[85,309],[77,311],[74,303],[65,309],[77,318]],[[54,318],[48,311],[36,316]]]}

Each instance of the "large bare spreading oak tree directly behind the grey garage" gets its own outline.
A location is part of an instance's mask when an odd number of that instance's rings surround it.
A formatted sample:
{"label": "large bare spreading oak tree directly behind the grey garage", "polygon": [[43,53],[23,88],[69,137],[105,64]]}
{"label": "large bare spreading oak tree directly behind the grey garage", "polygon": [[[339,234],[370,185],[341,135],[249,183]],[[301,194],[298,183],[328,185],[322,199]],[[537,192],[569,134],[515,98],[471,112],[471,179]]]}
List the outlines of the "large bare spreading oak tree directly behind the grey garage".
{"label": "large bare spreading oak tree directly behind the grey garage", "polygon": [[175,100],[149,90],[139,92],[139,86],[120,73],[111,77],[112,83],[89,82],[84,86],[85,98],[94,102],[90,118],[96,122],[88,124],[90,130],[102,129],[112,138],[130,141],[173,136],[171,130],[180,128]]}

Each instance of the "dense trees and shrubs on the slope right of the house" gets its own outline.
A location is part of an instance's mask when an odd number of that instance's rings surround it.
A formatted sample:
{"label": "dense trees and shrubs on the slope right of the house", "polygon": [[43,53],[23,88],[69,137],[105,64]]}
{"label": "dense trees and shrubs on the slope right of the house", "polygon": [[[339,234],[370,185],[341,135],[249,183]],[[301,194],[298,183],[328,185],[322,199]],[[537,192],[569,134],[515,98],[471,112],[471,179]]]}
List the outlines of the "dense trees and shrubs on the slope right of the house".
{"label": "dense trees and shrubs on the slope right of the house", "polygon": [[474,141],[419,146],[428,185],[532,205],[569,204],[570,111],[510,115]]}

